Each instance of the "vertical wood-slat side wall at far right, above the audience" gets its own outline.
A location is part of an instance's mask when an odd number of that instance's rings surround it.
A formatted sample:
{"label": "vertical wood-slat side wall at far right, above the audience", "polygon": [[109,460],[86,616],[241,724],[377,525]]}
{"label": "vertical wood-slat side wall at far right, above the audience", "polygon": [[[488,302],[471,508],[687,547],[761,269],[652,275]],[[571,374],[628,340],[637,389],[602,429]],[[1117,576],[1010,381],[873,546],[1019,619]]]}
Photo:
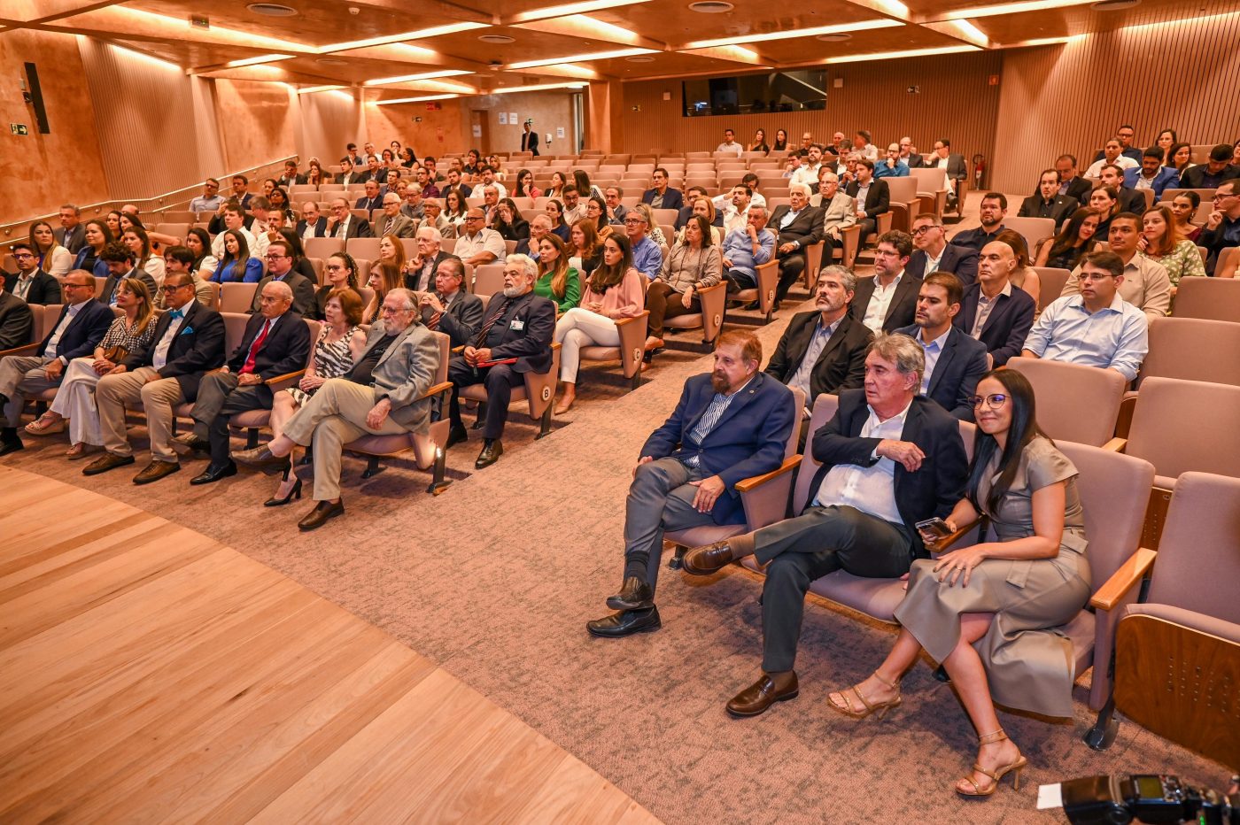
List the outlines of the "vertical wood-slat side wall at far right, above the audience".
{"label": "vertical wood-slat side wall at far right, above the audience", "polygon": [[990,185],[1032,192],[1060,152],[1084,170],[1121,123],[1141,146],[1167,128],[1190,144],[1240,138],[1240,12],[1229,7],[1209,0],[1194,20],[1004,52]]}

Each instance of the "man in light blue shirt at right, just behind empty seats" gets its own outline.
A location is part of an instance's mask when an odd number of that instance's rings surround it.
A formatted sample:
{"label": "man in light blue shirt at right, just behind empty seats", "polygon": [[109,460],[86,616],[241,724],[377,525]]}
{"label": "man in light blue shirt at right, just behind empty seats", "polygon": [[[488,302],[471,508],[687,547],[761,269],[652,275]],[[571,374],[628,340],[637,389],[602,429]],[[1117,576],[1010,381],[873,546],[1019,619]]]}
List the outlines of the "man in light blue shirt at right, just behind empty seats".
{"label": "man in light blue shirt at right, just behind empty seats", "polygon": [[1120,297],[1123,259],[1115,253],[1089,253],[1081,259],[1080,295],[1054,301],[1021,353],[1071,364],[1114,369],[1133,380],[1149,352],[1146,313]]}

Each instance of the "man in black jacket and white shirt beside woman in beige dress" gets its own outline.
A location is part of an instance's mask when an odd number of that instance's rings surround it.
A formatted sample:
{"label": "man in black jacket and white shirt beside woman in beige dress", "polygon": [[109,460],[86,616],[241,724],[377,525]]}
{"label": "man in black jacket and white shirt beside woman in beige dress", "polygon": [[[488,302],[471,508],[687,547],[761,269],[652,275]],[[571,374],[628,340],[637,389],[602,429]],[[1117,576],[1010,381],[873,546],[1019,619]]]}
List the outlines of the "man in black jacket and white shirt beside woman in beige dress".
{"label": "man in black jacket and white shirt beside woman in beige dress", "polygon": [[684,571],[711,575],[753,554],[763,585],[763,673],[728,702],[758,716],[797,694],[796,658],[810,582],[837,570],[894,578],[926,555],[914,526],[946,518],[967,478],[960,424],[919,395],[925,359],[906,336],[879,334],[866,356],[864,389],[839,394],[836,416],[813,434],[822,467],[805,510],[684,556]]}

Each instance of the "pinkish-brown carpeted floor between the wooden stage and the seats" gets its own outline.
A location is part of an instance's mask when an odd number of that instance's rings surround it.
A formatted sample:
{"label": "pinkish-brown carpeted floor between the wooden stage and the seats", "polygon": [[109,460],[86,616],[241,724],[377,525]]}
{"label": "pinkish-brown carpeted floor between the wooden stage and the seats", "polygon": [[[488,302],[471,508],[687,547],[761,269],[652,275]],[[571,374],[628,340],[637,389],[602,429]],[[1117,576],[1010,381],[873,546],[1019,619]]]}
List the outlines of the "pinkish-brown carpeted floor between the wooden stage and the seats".
{"label": "pinkish-brown carpeted floor between the wooden stage and the seats", "polygon": [[[768,352],[789,317],[761,330]],[[1003,716],[1030,761],[1019,793],[1004,782],[987,801],[961,800],[951,785],[972,762],[973,732],[929,668],[906,679],[904,706],[884,722],[825,707],[828,691],[878,664],[892,632],[821,605],[806,616],[801,696],[732,720],[723,704],[756,676],[761,639],[760,580],[742,570],[711,580],[665,570],[661,632],[588,637],[584,622],[606,612],[603,600],[620,583],[637,450],[683,379],[707,364],[668,353],[629,394],[588,374],[569,424],[549,437],[534,442],[532,427],[511,424],[508,452],[481,472],[477,443],[456,447],[450,466],[471,474],[438,498],[403,462],[362,482],[363,465],[347,461],[347,515],[309,535],[295,528],[308,500],[260,505],[273,487],[265,477],[191,488],[202,465],[187,462],[145,488],[129,468],[87,479],[81,463],[58,457],[61,439],[6,461],[186,524],[286,574],[436,660],[668,823],[1054,823],[1034,810],[1038,783],[1111,772],[1221,783],[1220,766],[1131,723],[1109,752],[1090,751],[1078,689],[1071,723]]]}

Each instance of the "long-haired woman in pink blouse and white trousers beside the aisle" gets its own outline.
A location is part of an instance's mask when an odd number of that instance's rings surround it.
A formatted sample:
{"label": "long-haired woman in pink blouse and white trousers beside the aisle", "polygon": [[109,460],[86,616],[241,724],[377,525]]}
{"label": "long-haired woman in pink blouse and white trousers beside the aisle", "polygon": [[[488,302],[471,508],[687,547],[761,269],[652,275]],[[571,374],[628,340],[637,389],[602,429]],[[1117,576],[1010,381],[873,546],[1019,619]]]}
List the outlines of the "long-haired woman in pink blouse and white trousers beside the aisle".
{"label": "long-haired woman in pink blouse and white trousers beside the aisle", "polygon": [[556,323],[559,351],[559,379],[564,383],[556,415],[568,412],[577,400],[577,369],[582,347],[620,344],[618,318],[641,315],[645,303],[644,275],[632,266],[632,247],[622,233],[613,233],[603,243],[603,263],[590,274],[582,302]]}

